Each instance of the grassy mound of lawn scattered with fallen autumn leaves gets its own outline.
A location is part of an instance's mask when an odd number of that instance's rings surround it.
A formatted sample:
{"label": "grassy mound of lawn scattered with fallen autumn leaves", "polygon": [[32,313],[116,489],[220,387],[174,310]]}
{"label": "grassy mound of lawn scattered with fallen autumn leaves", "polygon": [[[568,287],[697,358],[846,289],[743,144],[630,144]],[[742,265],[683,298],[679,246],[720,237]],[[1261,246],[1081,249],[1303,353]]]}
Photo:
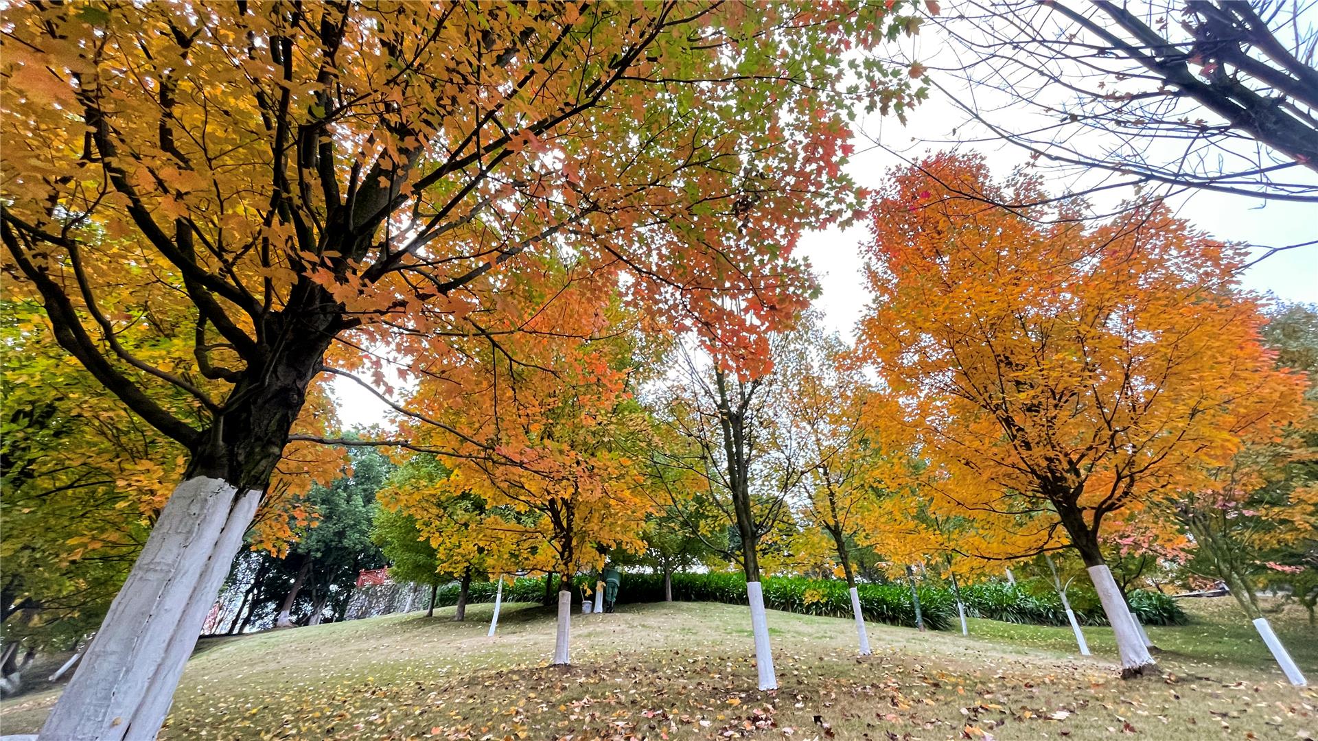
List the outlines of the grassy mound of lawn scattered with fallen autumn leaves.
{"label": "grassy mound of lawn scattered with fallen autumn leaves", "polygon": [[[1318,737],[1318,690],[1285,683],[1230,599],[1188,600],[1189,625],[1149,628],[1153,675],[1115,675],[1111,630],[971,620],[960,632],[770,612],[776,692],[755,690],[746,608],[626,605],[575,616],[568,668],[546,666],[554,617],[490,605],[455,624],[409,613],[203,641],[161,738],[1246,738]],[[1318,632],[1271,616],[1318,680]],[[38,682],[37,674],[32,675]],[[58,690],[0,704],[4,733],[33,732]]]}

